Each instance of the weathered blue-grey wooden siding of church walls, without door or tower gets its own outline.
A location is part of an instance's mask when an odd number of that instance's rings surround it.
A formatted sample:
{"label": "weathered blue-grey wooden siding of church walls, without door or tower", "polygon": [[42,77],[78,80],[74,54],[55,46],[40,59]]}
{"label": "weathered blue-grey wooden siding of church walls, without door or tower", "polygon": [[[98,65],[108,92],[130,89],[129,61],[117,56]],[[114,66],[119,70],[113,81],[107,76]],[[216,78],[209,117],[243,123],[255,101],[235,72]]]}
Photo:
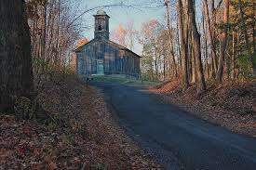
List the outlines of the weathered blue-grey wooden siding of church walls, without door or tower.
{"label": "weathered blue-grey wooden siding of church walls, without door or tower", "polygon": [[81,52],[76,52],[76,55],[79,74],[97,74],[97,61],[102,61],[105,74],[126,74],[133,77],[140,75],[140,58],[106,41],[91,42],[83,46]]}

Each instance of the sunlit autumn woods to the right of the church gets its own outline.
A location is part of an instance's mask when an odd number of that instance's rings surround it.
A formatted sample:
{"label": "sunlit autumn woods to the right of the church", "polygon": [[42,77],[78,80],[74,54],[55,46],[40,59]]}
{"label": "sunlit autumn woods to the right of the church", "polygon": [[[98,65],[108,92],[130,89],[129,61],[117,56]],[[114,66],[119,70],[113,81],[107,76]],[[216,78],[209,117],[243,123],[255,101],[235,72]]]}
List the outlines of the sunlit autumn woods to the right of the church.
{"label": "sunlit autumn woods to the right of the church", "polygon": [[143,78],[180,79],[184,88],[196,83],[199,91],[209,80],[255,78],[255,2],[153,2],[166,16],[141,28]]}

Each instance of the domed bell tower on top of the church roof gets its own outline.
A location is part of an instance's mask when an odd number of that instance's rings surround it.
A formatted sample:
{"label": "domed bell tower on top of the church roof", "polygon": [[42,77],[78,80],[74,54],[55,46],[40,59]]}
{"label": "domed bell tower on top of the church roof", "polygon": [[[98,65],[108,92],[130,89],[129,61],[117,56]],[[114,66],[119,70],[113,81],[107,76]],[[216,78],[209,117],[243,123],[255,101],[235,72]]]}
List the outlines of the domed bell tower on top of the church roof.
{"label": "domed bell tower on top of the church roof", "polygon": [[99,10],[95,18],[94,38],[109,40],[109,16],[105,11]]}

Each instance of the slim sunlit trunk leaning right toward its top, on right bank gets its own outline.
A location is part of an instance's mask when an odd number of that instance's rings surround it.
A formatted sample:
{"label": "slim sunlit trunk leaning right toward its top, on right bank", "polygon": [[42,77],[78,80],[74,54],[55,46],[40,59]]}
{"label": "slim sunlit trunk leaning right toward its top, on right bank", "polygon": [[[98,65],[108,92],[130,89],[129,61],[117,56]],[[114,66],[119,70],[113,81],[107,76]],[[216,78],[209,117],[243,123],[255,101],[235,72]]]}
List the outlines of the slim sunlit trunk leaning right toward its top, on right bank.
{"label": "slim sunlit trunk leaning right toward its top, on right bank", "polygon": [[228,20],[229,20],[229,0],[224,0],[224,13],[223,13],[223,23],[224,28],[221,34],[221,54],[219,59],[218,71],[216,74],[216,80],[222,82],[223,77],[223,61],[225,56],[225,50],[227,45],[227,31],[228,31]]}

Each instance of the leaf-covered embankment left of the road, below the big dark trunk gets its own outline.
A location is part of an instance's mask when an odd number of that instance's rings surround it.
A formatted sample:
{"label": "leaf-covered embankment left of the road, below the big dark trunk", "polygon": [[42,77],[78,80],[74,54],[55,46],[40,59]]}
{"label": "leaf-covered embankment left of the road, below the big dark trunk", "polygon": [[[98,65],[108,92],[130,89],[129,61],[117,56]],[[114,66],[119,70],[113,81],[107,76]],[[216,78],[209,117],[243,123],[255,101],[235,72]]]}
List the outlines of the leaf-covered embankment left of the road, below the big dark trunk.
{"label": "leaf-covered embankment left of the road, below the big dark trunk", "polygon": [[73,75],[44,82],[39,100],[53,120],[0,114],[0,169],[157,169],[107,110],[101,92]]}

